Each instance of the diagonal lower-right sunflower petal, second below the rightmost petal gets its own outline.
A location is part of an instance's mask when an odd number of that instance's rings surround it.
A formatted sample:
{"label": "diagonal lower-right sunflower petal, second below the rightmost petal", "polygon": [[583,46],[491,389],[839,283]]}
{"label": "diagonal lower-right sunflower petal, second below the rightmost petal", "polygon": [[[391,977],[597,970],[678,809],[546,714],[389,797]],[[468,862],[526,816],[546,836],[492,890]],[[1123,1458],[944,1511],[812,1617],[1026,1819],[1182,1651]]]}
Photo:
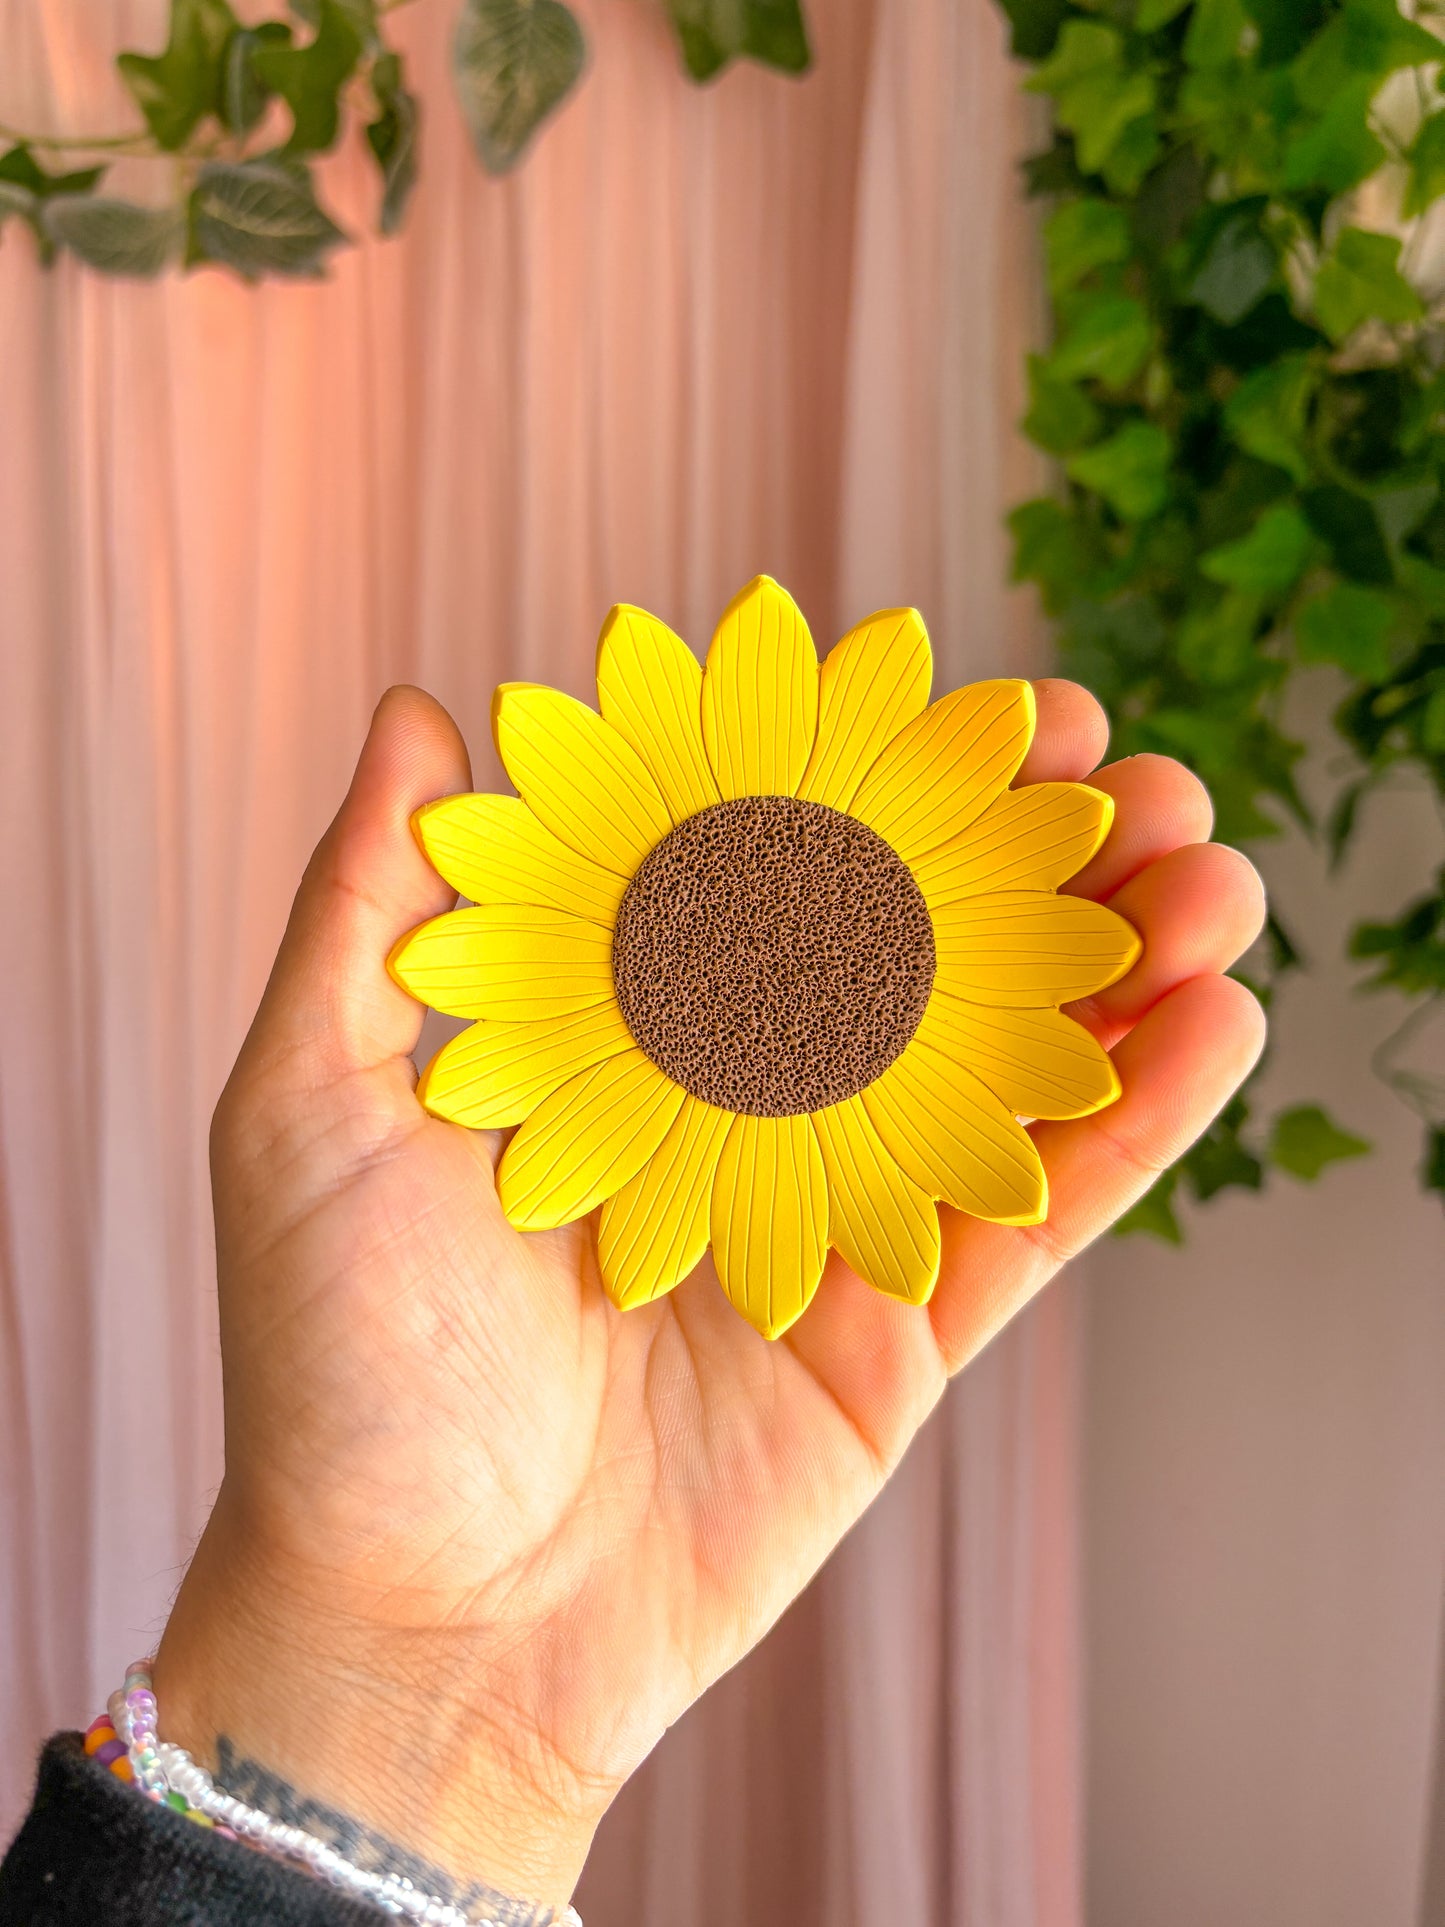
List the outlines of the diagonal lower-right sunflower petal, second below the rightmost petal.
{"label": "diagonal lower-right sunflower petal, second below the rightmost petal", "polygon": [[929,1197],[992,1224],[1038,1224],[1048,1179],[1029,1133],[979,1079],[915,1037],[863,1093],[879,1137]]}

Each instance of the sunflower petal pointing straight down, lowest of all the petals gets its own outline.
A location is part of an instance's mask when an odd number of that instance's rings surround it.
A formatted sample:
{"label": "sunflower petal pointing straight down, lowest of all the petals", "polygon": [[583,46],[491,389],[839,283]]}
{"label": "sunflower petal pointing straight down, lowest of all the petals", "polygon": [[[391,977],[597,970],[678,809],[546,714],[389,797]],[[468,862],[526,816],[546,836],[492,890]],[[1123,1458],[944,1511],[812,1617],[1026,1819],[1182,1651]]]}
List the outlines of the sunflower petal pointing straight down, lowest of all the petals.
{"label": "sunflower petal pointing straight down, lowest of all the petals", "polygon": [[713,1183],[713,1262],[763,1337],[803,1314],[828,1254],[828,1177],[805,1116],[734,1118]]}

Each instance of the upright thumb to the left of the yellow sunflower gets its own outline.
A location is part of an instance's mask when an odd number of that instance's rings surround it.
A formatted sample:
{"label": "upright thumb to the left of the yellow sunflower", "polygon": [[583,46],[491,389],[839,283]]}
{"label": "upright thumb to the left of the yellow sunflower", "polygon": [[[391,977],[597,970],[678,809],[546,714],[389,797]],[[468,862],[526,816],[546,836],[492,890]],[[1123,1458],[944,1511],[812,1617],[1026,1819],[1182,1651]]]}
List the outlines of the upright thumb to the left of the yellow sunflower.
{"label": "upright thumb to the left of the yellow sunflower", "polygon": [[[457,892],[437,877],[410,815],[470,786],[466,744],[424,690],[376,705],[356,773],[301,879],[241,1064],[285,1064],[308,1087],[416,1048],[422,1006],[391,981],[387,952]],[[237,1066],[237,1069],[241,1068]]]}

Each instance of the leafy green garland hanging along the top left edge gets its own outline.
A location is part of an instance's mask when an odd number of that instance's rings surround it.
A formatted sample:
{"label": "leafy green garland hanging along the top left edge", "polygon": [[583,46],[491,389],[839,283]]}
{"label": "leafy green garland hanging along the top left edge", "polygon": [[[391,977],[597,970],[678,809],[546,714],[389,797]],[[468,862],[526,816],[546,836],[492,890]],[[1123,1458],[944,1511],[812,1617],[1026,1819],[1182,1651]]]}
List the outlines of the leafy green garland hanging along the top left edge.
{"label": "leafy green garland hanging along the top left edge", "polygon": [[[289,17],[243,25],[227,0],[171,0],[166,48],[116,62],[141,116],[135,131],[56,139],[0,125],[0,229],[23,222],[42,260],[67,251],[102,274],[202,262],[252,281],[322,274],[349,237],[316,193],[312,160],[349,127],[364,129],[376,162],[380,231],[407,214],[420,102],[387,40],[387,17],[405,4],[291,0]],[[697,81],[730,60],[784,73],[809,66],[800,0],[661,4]],[[516,166],[586,60],[582,27],[561,0],[462,0],[453,81],[487,172]],[[108,166],[121,156],[168,162],[166,198],[108,195]]]}

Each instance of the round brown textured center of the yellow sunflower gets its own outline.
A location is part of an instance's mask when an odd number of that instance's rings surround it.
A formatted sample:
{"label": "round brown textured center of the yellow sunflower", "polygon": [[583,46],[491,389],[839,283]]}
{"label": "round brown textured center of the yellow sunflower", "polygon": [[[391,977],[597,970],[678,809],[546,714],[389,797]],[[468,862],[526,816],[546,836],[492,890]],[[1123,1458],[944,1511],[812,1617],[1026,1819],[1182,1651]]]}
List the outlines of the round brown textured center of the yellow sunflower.
{"label": "round brown textured center of the yellow sunflower", "polygon": [[722,1110],[788,1118],[861,1091],[933,989],[933,921],[882,836],[794,796],[740,796],[647,854],[613,937],[638,1044]]}

